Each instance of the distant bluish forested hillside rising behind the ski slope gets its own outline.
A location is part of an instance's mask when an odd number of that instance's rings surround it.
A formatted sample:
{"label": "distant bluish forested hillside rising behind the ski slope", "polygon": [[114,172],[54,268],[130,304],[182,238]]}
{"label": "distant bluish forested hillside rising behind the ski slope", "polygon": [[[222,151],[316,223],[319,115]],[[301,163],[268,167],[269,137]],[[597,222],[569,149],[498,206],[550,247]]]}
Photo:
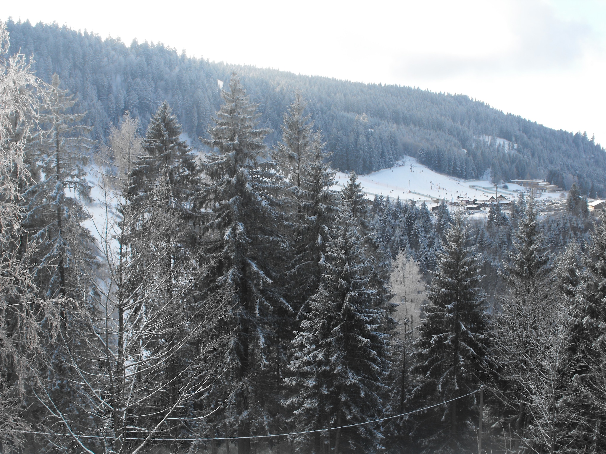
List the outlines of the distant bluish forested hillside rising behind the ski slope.
{"label": "distant bluish forested hillside rising behind the ski slope", "polygon": [[167,100],[184,132],[199,144],[198,137],[208,138],[207,125],[219,108],[218,81],[227,82],[236,70],[260,105],[262,124],[273,130],[270,143],[278,139],[282,114],[301,90],[337,169],[369,173],[409,154],[436,171],[467,179],[491,169],[497,181],[549,177],[566,189],[576,182],[589,196],[606,196],[606,153],[587,134],[551,130],[468,96],[224,65],[188,58],[162,44],[126,45],[56,24],[8,21],[7,28],[13,48],[34,56],[42,80],[50,82],[57,73],[76,93],[77,109],[88,113],[96,139],[105,140],[125,111],[147,127]]}

